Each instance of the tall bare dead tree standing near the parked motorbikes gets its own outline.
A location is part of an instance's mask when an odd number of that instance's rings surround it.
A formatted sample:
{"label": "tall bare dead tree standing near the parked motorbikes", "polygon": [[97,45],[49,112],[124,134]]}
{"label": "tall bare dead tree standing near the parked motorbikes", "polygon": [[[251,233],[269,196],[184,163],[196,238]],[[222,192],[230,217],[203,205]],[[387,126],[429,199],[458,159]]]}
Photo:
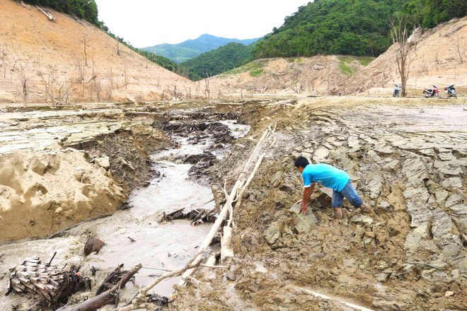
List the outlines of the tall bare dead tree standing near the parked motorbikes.
{"label": "tall bare dead tree standing near the parked motorbikes", "polygon": [[402,85],[402,97],[407,96],[407,80],[410,72],[410,58],[409,45],[408,45],[408,20],[400,17],[397,20],[389,20],[389,26],[391,27],[391,37],[393,39],[393,45],[396,48],[396,63],[397,71],[400,75],[400,84]]}

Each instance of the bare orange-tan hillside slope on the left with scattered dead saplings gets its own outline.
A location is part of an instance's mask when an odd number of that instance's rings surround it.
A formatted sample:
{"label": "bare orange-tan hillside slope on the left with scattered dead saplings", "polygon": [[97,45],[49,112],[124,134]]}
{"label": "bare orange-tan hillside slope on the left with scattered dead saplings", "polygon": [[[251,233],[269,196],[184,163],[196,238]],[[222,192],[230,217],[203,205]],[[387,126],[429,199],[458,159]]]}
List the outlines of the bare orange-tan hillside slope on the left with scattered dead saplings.
{"label": "bare orange-tan hillside slope on the left with scattered dead saplings", "polygon": [[200,86],[85,20],[0,2],[0,102],[135,102],[197,98]]}

